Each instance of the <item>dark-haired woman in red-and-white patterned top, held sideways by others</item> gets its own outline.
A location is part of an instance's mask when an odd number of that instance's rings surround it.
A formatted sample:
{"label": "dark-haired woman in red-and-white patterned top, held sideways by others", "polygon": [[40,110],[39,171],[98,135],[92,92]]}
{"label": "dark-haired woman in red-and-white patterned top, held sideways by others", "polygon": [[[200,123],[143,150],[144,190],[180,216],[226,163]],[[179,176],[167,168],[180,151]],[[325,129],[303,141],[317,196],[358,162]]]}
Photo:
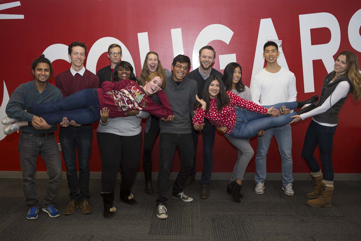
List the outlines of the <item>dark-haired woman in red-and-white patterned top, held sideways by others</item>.
{"label": "dark-haired woman in red-and-white patterned top, held sideways by others", "polygon": [[[267,130],[276,126],[286,125],[291,122],[291,116],[300,115],[314,105],[310,105],[297,112],[279,116],[279,109],[285,106],[287,109],[301,108],[305,104],[313,103],[318,96],[312,96],[303,102],[285,102],[274,106],[259,106],[251,101],[245,100],[232,91],[225,91],[222,80],[218,76],[210,76],[204,85],[203,99],[196,96],[197,113],[193,118],[193,125],[202,124],[207,118],[214,126],[225,126],[227,134],[231,137],[249,139],[255,136],[258,130]],[[239,106],[242,108],[235,108]],[[275,118],[263,118],[273,116]],[[278,117],[276,117],[278,116]]]}

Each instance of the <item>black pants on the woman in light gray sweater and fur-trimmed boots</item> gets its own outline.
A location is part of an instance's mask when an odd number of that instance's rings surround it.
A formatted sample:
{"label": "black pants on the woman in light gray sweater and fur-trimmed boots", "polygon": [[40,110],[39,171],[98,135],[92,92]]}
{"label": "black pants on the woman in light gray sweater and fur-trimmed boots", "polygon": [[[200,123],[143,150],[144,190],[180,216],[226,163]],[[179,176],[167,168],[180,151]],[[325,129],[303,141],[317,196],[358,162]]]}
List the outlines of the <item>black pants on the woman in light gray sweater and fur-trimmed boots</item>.
{"label": "black pants on the woman in light gray sweater and fur-trimmed boots", "polygon": [[96,137],[101,156],[103,192],[114,191],[119,167],[122,169],[121,187],[131,189],[140,163],[142,132],[131,136],[97,132]]}

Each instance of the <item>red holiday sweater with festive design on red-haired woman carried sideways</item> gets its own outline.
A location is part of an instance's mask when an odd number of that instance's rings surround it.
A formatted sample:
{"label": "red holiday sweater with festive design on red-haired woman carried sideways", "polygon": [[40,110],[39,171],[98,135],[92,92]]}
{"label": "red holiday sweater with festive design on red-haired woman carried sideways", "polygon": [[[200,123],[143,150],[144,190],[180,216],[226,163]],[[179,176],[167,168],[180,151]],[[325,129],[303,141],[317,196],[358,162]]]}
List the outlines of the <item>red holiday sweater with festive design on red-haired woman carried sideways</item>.
{"label": "red holiday sweater with festive design on red-haired woman carried sideways", "polygon": [[[173,115],[163,90],[157,92],[162,104],[160,106],[145,94],[142,87],[130,79],[123,79],[116,83],[104,81],[97,92],[100,108],[108,107],[110,118],[126,116],[125,112],[132,109],[146,111],[160,118],[168,118],[168,116]],[[106,92],[112,92],[112,95],[106,94]]]}

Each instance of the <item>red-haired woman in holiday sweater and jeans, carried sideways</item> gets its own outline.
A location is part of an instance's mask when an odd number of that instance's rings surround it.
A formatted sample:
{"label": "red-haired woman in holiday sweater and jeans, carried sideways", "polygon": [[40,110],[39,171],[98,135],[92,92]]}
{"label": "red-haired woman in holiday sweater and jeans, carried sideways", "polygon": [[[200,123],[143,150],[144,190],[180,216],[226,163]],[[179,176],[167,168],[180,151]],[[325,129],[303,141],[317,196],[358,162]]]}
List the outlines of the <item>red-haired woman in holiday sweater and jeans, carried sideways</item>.
{"label": "red-haired woman in holiday sweater and jeans, carried sideways", "polygon": [[[100,120],[101,110],[104,108],[109,109],[110,118],[126,116],[125,112],[129,110],[146,111],[165,119],[173,115],[167,96],[162,91],[162,88],[165,87],[164,77],[158,73],[149,75],[145,80],[144,87],[140,87],[130,79],[116,83],[105,81],[101,86],[99,89],[78,91],[55,102],[38,104],[26,111],[34,114],[34,119],[39,120],[38,116],[40,116],[50,125],[61,123],[63,117],[67,117],[77,124],[92,124]],[[155,103],[150,97],[155,93],[158,93],[162,106]],[[6,116],[2,122],[4,124],[4,122],[11,123],[13,121],[16,120]],[[14,122],[6,127],[4,132],[10,128],[13,133],[22,126],[32,125],[32,122]]]}

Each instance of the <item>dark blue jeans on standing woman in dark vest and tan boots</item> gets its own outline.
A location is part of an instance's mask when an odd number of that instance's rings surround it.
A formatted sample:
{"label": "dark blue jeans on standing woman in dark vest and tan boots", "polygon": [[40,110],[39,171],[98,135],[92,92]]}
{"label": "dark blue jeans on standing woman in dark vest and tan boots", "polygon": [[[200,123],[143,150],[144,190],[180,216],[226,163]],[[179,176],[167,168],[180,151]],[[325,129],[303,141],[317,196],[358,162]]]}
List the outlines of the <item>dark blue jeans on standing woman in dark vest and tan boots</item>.
{"label": "dark blue jeans on standing woman in dark vest and tan boots", "polygon": [[321,170],[313,153],[318,146],[321,157],[323,179],[334,180],[334,169],[332,167],[332,147],[334,134],[337,126],[324,126],[316,121],[311,121],[305,136],[302,148],[302,157],[305,159],[311,172]]}

